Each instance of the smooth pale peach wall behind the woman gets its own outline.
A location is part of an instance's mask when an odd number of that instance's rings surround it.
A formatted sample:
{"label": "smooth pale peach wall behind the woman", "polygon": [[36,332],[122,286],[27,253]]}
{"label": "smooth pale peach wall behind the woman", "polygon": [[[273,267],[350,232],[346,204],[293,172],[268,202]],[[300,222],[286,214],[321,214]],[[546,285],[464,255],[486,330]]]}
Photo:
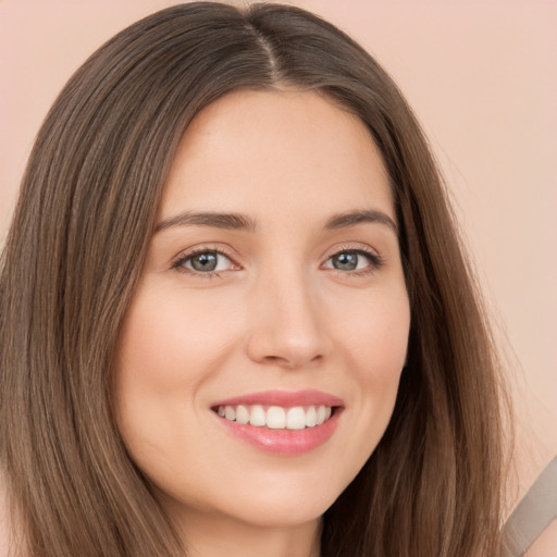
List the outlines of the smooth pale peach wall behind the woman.
{"label": "smooth pale peach wall behind the woman", "polygon": [[[174,3],[0,0],[0,238],[65,81],[114,33]],[[508,363],[517,497],[557,453],[557,1],[289,3],[367,47],[425,127]]]}

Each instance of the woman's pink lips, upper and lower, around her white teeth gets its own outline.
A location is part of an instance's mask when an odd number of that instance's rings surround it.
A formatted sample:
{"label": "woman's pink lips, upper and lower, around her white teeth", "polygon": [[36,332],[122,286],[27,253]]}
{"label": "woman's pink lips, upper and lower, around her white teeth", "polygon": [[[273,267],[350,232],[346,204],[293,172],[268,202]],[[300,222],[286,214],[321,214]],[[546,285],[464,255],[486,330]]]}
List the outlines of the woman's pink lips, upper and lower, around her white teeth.
{"label": "woman's pink lips, upper and lower, around her white teeth", "polygon": [[219,400],[212,405],[212,408],[257,404],[261,406],[282,406],[284,408],[320,405],[335,407],[329,420],[321,425],[306,428],[305,430],[271,430],[265,426],[239,424],[221,418],[216,412],[214,413],[219,423],[239,440],[264,451],[282,456],[302,455],[326,443],[335,432],[344,409],[344,403],[341,398],[319,391],[299,391],[297,393],[265,391]]}

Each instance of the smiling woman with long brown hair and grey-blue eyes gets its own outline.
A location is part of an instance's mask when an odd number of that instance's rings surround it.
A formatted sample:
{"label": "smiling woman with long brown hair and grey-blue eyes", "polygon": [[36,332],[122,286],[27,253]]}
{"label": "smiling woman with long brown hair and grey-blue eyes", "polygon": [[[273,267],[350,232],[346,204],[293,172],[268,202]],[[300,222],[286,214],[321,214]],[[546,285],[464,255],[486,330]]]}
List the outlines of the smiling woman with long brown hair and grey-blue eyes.
{"label": "smiling woman with long brown hair and grey-blue eyes", "polygon": [[0,284],[15,555],[499,554],[498,369],[444,188],[320,18],[193,3],[104,45]]}

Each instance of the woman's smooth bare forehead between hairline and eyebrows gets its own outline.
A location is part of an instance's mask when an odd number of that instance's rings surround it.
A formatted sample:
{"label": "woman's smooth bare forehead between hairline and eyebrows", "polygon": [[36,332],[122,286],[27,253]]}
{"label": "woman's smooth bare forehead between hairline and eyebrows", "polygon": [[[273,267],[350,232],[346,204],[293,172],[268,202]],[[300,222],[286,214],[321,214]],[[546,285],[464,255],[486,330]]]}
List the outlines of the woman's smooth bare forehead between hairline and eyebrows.
{"label": "woman's smooth bare forehead between hairline and eyebrows", "polygon": [[308,91],[242,90],[186,129],[163,195],[176,209],[276,213],[373,206],[395,219],[388,176],[357,116]]}

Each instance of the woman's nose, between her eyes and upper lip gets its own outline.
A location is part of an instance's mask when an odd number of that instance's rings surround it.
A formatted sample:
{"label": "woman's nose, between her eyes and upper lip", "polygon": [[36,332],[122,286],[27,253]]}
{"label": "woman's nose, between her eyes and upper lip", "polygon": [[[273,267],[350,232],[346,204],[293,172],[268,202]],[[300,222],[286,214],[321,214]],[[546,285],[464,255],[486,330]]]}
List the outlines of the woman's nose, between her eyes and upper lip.
{"label": "woman's nose, between her eyes and upper lip", "polygon": [[247,351],[251,360],[285,369],[319,363],[330,338],[317,289],[302,272],[274,273],[250,300]]}

